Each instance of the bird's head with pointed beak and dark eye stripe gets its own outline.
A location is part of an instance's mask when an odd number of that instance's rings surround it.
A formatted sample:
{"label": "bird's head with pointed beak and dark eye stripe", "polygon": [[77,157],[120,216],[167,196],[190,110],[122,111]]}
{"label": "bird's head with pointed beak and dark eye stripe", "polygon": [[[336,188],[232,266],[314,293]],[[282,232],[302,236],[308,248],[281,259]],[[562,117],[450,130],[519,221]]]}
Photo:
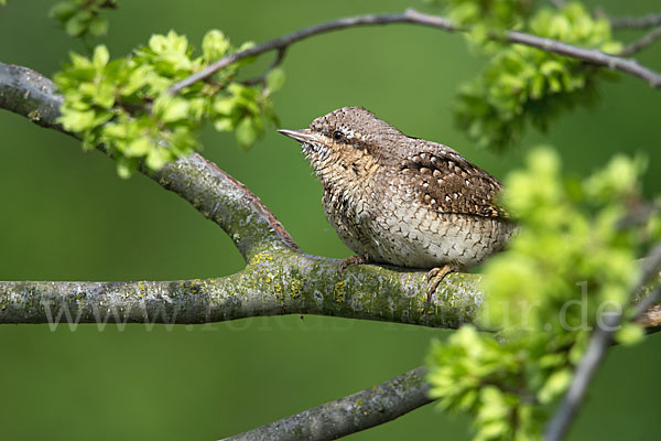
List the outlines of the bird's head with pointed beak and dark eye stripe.
{"label": "bird's head with pointed beak and dark eye stripe", "polygon": [[[302,130],[279,130],[301,142],[303,153],[322,181],[368,173],[390,155],[402,133],[362,107],[343,107],[312,121]],[[394,143],[397,146],[397,143]]]}

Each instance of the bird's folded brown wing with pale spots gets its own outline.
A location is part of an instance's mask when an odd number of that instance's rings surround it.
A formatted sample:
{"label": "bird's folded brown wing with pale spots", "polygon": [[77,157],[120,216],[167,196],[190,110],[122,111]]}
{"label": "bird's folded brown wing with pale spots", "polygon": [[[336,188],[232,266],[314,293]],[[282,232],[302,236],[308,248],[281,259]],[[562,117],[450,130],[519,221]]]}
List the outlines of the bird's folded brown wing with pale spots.
{"label": "bird's folded brown wing with pale spots", "polygon": [[[420,146],[423,148],[423,146]],[[400,170],[410,176],[421,202],[441,213],[508,218],[496,197],[502,184],[489,173],[442,144],[420,149]]]}

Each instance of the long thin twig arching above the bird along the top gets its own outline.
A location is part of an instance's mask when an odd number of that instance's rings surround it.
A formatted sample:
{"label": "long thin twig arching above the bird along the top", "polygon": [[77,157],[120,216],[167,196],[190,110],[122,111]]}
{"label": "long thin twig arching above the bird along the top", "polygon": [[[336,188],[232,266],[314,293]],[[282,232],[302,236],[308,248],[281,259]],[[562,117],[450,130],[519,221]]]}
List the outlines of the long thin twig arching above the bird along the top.
{"label": "long thin twig arching above the bird along the top", "polygon": [[[394,23],[418,24],[441,29],[447,32],[466,31],[465,29],[455,26],[446,18],[424,14],[413,9],[408,9],[403,13],[395,14],[367,14],[333,20],[325,23],[301,29],[299,31],[292,32],[291,34],[286,34],[278,39],[268,41],[266,43],[258,44],[245,51],[234,52],[210,64],[206,68],[188,76],[187,78],[175,83],[172,87],[170,87],[169,92],[171,94],[177,94],[182,89],[191,86],[192,84],[210,77],[219,69],[227,67],[230,64],[238,62],[239,60],[259,55],[273,50],[286,49],[301,40],[305,40],[314,35],[348,28],[384,25]],[[620,71],[644,79],[653,88],[661,87],[661,74],[648,67],[641,66],[635,60],[621,58],[616,55],[606,54],[602,51],[579,47],[572,44],[563,43],[557,40],[544,39],[518,31],[506,31],[502,34],[495,33],[491,35],[491,39],[505,40],[510,43],[524,44],[528,46],[540,49],[542,51],[552,52],[560,55],[565,55],[568,57],[581,60],[586,63],[594,64],[596,66],[603,66],[614,71]]]}

